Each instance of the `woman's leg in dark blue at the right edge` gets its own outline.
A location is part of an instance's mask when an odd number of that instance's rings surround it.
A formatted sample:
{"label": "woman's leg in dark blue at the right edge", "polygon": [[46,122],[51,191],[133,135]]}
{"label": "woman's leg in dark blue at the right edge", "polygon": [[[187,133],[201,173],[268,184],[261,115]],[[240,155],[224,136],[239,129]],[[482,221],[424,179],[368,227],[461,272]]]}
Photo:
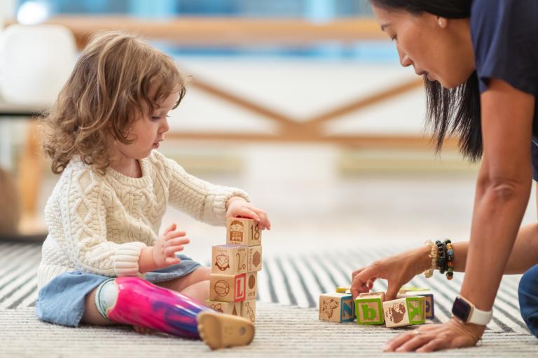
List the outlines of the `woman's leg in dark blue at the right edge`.
{"label": "woman's leg in dark blue at the right edge", "polygon": [[538,265],[530,268],[519,282],[521,317],[534,336],[538,337]]}

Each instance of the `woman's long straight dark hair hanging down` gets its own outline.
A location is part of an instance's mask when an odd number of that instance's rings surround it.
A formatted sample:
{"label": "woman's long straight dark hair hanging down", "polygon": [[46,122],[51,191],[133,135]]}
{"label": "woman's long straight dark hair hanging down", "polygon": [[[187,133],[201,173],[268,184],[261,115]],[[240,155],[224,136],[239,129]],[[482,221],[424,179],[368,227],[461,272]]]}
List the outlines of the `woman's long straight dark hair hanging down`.
{"label": "woman's long straight dark hair hanging down", "polygon": [[[418,15],[432,13],[448,19],[462,19],[471,14],[471,0],[370,0],[386,10],[403,10]],[[443,148],[447,135],[459,138],[464,157],[475,162],[482,157],[480,90],[476,71],[462,85],[446,89],[424,78],[427,123],[434,131],[436,150]]]}

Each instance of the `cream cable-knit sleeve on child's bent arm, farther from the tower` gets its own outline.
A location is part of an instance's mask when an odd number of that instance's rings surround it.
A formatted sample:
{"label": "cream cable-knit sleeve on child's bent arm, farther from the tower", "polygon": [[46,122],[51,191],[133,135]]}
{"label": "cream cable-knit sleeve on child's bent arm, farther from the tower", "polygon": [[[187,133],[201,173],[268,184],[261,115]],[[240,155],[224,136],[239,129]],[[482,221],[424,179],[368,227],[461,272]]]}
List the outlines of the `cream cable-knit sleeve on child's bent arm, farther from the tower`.
{"label": "cream cable-knit sleeve on child's bent arm, farther from the tower", "polygon": [[139,275],[138,259],[146,245],[114,243],[106,236],[106,189],[95,173],[69,169],[46,206],[50,234],[76,269],[108,276]]}

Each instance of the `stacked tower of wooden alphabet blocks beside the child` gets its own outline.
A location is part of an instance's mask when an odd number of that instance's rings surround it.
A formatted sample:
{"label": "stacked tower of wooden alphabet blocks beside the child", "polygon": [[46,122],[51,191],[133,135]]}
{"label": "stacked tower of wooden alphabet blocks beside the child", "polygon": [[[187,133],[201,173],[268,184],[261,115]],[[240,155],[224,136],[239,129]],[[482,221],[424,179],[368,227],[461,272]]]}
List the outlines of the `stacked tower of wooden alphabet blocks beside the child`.
{"label": "stacked tower of wooden alphabet blocks beside the child", "polygon": [[256,321],[261,230],[251,219],[226,220],[226,245],[212,248],[207,306]]}

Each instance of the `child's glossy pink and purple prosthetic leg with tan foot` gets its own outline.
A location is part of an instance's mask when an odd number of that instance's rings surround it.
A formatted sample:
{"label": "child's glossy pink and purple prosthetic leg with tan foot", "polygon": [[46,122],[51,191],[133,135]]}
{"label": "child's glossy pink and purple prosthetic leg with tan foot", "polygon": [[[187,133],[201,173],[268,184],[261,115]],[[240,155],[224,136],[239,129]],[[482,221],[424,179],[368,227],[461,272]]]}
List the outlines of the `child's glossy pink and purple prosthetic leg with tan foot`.
{"label": "child's glossy pink and purple prosthetic leg with tan foot", "polygon": [[184,294],[142,278],[119,277],[97,287],[95,303],[110,322],[132,324],[185,338],[201,338],[212,349],[247,345],[254,324],[223,315]]}

